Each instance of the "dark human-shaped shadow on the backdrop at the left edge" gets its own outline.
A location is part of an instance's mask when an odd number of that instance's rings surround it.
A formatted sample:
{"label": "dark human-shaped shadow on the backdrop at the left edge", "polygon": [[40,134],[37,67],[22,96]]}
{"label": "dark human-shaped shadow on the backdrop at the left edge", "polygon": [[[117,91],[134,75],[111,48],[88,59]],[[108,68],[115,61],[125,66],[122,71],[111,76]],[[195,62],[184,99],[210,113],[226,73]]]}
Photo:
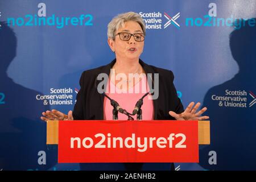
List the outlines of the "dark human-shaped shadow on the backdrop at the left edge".
{"label": "dark human-shaped shadow on the backdrop at the left edge", "polygon": [[[46,170],[57,162],[56,151],[47,151],[46,123],[39,121],[41,112],[49,108],[36,101],[36,94],[42,93],[7,76],[16,56],[17,38],[5,22],[0,23],[0,169]],[[46,165],[38,164],[39,151],[46,152]]]}

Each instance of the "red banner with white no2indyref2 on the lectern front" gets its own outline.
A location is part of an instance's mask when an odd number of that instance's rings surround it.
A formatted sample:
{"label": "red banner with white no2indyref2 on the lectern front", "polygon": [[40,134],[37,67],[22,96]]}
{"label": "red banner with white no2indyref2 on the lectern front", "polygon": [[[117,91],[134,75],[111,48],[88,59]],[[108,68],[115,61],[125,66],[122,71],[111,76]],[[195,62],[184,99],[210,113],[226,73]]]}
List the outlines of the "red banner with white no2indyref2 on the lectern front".
{"label": "red banner with white no2indyref2 on the lectern front", "polygon": [[59,163],[199,162],[197,121],[60,121]]}

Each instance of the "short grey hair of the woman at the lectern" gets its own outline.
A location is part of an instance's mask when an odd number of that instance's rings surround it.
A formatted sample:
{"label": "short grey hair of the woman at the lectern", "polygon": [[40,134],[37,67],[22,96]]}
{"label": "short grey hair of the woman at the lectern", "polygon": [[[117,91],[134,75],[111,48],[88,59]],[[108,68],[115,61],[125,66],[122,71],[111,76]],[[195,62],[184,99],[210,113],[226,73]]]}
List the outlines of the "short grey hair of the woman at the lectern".
{"label": "short grey hair of the woman at the lectern", "polygon": [[125,26],[125,22],[133,21],[139,23],[142,28],[143,34],[146,34],[146,27],[143,19],[138,13],[133,11],[122,13],[115,16],[108,24],[108,38],[115,40],[115,31],[118,28]]}

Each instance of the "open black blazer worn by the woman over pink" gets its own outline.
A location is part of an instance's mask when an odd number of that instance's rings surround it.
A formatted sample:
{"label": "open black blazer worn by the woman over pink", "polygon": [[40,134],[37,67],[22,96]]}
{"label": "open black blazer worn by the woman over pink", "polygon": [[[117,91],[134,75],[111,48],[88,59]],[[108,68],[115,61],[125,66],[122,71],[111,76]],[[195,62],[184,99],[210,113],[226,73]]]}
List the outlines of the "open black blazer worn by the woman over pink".
{"label": "open black blazer worn by the woman over pink", "polygon": [[[95,69],[90,69],[84,71],[80,78],[80,90],[77,93],[76,104],[73,109],[73,118],[75,120],[102,120],[103,106],[104,106],[104,96],[97,91],[97,76],[100,73],[110,74],[110,69],[113,67],[115,59],[107,65],[98,67]],[[153,100],[154,104],[154,119],[158,120],[175,120],[171,117],[169,111],[175,111],[175,113],[182,113],[184,111],[183,105],[180,99],[177,97],[177,92],[174,86],[174,74],[167,69],[156,68],[152,65],[147,65],[141,59],[139,63],[142,65],[144,71],[147,73],[159,73],[159,96],[156,100]],[[152,76],[154,81],[154,76]],[[154,84],[152,84],[154,86]],[[117,101],[118,102],[118,101]],[[135,104],[134,104],[135,105]],[[110,165],[115,165],[117,163],[112,163]],[[103,169],[108,170],[106,164],[86,164],[81,163],[81,170],[89,169]],[[139,171],[142,169],[143,163],[124,163],[127,170]],[[98,166],[98,167],[97,167]],[[114,166],[115,170],[118,167]],[[171,164],[170,170],[174,170],[174,164]]]}

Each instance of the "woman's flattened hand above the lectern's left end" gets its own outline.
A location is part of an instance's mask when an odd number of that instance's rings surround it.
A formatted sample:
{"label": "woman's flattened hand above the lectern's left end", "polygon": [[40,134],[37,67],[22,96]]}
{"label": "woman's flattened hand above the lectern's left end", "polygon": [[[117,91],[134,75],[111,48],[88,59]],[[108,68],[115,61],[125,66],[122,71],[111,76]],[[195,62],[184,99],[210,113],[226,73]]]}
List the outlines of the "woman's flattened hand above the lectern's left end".
{"label": "woman's flattened hand above the lectern's left end", "polygon": [[43,121],[48,120],[73,120],[72,110],[67,114],[61,113],[58,110],[52,109],[42,113],[43,117],[40,117]]}

